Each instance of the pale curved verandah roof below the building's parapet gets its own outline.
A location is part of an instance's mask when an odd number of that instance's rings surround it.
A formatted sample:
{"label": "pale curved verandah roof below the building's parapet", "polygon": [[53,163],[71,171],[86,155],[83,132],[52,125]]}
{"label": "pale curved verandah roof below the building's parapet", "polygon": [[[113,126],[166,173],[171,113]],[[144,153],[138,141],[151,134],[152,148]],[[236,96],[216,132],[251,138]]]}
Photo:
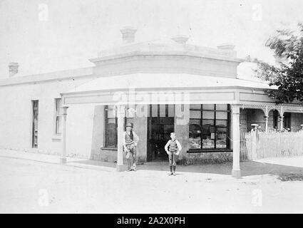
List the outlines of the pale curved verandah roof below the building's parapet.
{"label": "pale curved verandah roof below the building's parapet", "polygon": [[274,89],[267,83],[240,78],[200,76],[188,73],[133,73],[121,76],[100,77],[73,88],[62,95],[101,90],[174,89],[174,88],[255,88]]}

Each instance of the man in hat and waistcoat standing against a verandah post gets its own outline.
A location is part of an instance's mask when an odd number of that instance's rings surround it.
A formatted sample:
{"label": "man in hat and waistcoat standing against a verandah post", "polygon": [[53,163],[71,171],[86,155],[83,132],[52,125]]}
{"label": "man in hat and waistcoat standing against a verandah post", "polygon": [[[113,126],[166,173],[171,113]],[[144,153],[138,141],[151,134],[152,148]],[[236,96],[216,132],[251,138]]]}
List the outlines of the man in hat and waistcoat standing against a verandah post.
{"label": "man in hat and waistcoat standing against a verandah post", "polygon": [[123,148],[126,152],[126,160],[128,161],[128,171],[137,170],[137,152],[136,147],[139,141],[138,135],[133,131],[133,123],[126,125],[126,131],[123,133]]}

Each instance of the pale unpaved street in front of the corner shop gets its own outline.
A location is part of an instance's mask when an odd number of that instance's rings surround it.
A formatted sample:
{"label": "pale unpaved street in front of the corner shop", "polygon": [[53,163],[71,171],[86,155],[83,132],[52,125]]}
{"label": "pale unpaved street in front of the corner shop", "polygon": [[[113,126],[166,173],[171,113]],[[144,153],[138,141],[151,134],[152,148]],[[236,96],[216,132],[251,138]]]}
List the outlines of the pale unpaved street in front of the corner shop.
{"label": "pale unpaved street in front of the corner shop", "polygon": [[[0,157],[1,213],[297,213],[303,183],[273,175],[93,170]],[[178,170],[177,170],[178,171]]]}

